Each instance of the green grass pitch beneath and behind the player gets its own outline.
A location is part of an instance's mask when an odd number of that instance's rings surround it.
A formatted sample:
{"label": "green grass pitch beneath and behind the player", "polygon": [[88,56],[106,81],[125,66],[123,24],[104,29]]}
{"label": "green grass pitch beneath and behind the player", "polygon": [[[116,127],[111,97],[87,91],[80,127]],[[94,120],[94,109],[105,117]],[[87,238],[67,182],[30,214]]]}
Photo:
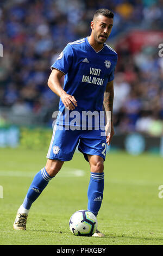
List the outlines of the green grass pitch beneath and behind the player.
{"label": "green grass pitch beneath and behind the player", "polygon": [[68,227],[71,215],[87,208],[90,170],[81,153],[65,162],[35,201],[27,230],[14,230],[17,209],[33,176],[45,166],[46,151],[0,149],[0,245],[163,244],[163,198],[158,196],[163,159],[149,154],[106,156],[104,198],[98,215],[98,229],[105,237],[74,236]]}

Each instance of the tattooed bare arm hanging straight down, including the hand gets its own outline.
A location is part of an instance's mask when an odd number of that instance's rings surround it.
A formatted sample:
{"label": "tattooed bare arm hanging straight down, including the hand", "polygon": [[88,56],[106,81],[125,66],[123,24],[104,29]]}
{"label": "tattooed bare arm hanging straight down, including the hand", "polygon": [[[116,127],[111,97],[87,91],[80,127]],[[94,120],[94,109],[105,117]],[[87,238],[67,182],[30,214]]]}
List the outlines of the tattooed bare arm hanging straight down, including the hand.
{"label": "tattooed bare arm hanging straight down, including the hand", "polygon": [[113,100],[114,100],[114,85],[113,80],[106,85],[106,90],[104,93],[104,108],[106,113],[106,143],[110,145],[112,136],[114,136],[114,127],[112,121],[112,108],[113,108]]}

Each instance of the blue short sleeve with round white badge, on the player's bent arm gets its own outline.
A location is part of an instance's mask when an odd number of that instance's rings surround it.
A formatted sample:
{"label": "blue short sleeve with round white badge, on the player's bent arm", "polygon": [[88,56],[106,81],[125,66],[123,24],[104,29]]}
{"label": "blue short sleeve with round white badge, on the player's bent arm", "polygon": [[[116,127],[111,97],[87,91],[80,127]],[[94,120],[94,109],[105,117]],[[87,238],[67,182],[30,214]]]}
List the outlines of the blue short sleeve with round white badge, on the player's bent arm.
{"label": "blue short sleeve with round white badge, on the player's bent arm", "polygon": [[52,70],[54,68],[58,69],[66,75],[68,70],[70,69],[72,60],[73,60],[72,48],[71,48],[70,44],[67,44],[66,47],[64,48],[64,50],[60,53],[57,60],[51,66],[51,69]]}

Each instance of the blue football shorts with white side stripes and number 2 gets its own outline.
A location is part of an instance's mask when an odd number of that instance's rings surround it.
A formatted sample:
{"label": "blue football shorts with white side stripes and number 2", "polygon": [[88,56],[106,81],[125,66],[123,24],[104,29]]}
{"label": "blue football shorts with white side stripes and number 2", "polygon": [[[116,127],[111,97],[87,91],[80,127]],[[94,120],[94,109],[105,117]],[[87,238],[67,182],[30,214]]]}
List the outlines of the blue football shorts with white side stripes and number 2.
{"label": "blue football shorts with white side stripes and number 2", "polygon": [[83,153],[86,161],[88,155],[102,156],[105,161],[106,137],[102,136],[101,130],[65,130],[55,124],[47,159],[70,161],[74,151]]}

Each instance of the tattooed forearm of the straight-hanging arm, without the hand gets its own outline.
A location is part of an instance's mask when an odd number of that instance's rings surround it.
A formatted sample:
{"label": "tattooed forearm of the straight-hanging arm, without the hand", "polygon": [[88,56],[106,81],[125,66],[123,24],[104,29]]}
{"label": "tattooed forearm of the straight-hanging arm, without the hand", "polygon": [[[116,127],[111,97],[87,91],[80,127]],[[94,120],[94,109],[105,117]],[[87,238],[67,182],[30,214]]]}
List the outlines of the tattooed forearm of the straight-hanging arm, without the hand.
{"label": "tattooed forearm of the straight-hanging arm, without the hand", "polygon": [[[106,90],[104,93],[104,101],[103,101],[105,112],[110,111],[110,113],[111,113],[111,115],[110,115],[111,121],[112,121],[113,100],[114,100],[114,87],[113,87],[113,81],[111,81],[106,86]],[[106,114],[106,119],[108,121],[107,114]]]}

